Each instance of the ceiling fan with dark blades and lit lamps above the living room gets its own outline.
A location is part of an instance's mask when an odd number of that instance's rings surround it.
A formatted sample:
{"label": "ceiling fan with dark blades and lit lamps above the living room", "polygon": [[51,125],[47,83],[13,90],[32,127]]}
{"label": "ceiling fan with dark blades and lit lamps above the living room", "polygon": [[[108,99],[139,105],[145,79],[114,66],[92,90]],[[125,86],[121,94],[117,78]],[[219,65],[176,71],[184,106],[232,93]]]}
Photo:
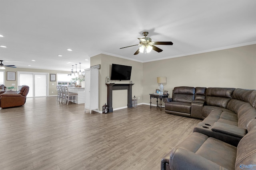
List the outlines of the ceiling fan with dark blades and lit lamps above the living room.
{"label": "ceiling fan with dark blades and lit lamps above the living room", "polygon": [[[134,53],[134,55],[137,55],[138,53],[149,53],[152,49],[154,51],[157,51],[158,53],[162,52],[163,50],[154,46],[154,45],[173,45],[171,41],[151,41],[151,38],[147,37],[148,32],[143,32],[142,35],[144,35],[144,38],[138,38],[140,40],[139,44],[136,45],[141,45],[140,48]],[[131,45],[128,47],[136,46],[136,45]],[[120,49],[123,49],[126,47],[122,47]]]}

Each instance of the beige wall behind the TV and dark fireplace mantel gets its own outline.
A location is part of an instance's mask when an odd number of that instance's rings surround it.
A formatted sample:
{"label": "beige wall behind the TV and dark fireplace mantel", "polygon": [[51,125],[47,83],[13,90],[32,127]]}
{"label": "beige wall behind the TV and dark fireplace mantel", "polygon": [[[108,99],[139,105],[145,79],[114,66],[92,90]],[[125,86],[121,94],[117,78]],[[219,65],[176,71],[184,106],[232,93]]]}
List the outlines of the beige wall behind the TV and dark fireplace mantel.
{"label": "beige wall behind the TV and dark fireplace mantel", "polygon": [[[106,76],[110,76],[110,68],[112,64],[121,64],[132,66],[131,80],[134,85],[132,86],[132,96],[140,97],[138,103],[142,102],[142,80],[143,80],[143,64],[130,61],[110,55],[100,54],[90,59],[91,66],[101,64],[99,69],[99,109],[102,111],[102,106],[107,102],[107,86],[105,84]],[[130,83],[130,81],[110,81],[112,83]],[[127,106],[127,90],[114,90],[113,91],[113,109]]]}

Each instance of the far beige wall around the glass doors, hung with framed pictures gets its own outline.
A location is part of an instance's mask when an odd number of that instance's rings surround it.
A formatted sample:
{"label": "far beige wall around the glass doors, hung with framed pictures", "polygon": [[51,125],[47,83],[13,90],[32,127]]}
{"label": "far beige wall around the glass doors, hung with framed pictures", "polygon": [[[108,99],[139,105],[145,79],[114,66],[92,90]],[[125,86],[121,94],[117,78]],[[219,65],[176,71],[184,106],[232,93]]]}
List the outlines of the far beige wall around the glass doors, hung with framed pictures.
{"label": "far beige wall around the glass doors, hung with framed pictures", "polygon": [[[15,81],[7,81],[7,71],[12,71],[12,72],[16,72],[16,78]],[[70,71],[58,71],[58,70],[42,70],[42,69],[33,69],[33,68],[12,68],[12,67],[6,67],[5,69],[5,86],[6,87],[10,87],[12,86],[12,84],[15,84],[15,88],[18,87],[18,81],[17,81],[17,72],[18,71],[25,71],[25,72],[44,72],[44,73],[49,73],[49,96],[52,95],[57,95],[57,91],[56,91],[56,83],[57,82],[50,82],[50,74],[56,74],[57,73],[62,73],[62,74],[70,74]],[[52,85],[52,83],[54,85]],[[53,93],[52,93],[53,92]]]}

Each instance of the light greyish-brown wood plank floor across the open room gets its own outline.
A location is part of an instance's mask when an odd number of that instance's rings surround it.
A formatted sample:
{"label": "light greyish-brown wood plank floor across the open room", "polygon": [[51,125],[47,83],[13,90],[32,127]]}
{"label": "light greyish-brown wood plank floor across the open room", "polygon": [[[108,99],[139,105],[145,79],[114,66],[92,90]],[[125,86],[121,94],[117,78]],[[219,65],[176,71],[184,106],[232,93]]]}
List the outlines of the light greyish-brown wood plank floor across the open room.
{"label": "light greyish-brown wood plank floor across the open room", "polygon": [[200,122],[148,105],[101,114],[56,97],[0,109],[1,170],[159,170]]}

